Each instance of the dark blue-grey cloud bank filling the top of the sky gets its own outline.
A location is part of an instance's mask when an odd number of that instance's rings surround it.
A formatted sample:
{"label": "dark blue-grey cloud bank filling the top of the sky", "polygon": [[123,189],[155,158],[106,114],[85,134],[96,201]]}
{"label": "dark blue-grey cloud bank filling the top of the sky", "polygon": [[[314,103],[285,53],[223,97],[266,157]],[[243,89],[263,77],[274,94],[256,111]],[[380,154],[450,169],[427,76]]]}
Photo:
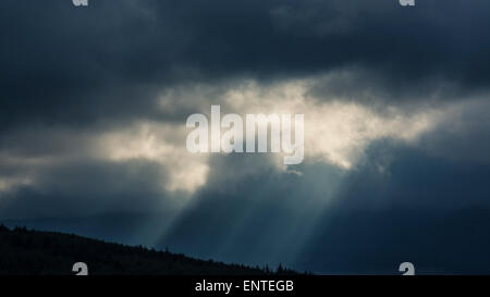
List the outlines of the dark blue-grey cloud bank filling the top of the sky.
{"label": "dark blue-grey cloud bank filling the top of the sky", "polygon": [[158,114],[158,90],[176,82],[266,82],[345,67],[367,72],[354,75],[351,99],[371,89],[392,101],[420,98],[406,94],[430,94],[445,81],[450,90],[476,91],[489,81],[489,12],[483,0],[415,9],[393,0],[99,0],[87,9],[3,1],[1,124],[127,121]]}

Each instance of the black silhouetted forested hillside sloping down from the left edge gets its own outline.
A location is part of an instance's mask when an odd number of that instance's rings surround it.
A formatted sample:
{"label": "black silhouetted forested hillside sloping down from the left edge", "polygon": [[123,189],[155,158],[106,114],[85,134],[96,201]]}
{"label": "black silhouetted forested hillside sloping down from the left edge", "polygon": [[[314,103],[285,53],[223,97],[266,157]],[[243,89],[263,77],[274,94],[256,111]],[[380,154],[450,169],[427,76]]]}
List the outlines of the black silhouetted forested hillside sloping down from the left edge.
{"label": "black silhouetted forested hillside sloping down from the left edge", "polygon": [[289,274],[268,269],[197,260],[169,251],[131,247],[71,234],[9,230],[0,225],[0,274],[75,274],[75,262],[85,262],[97,274]]}

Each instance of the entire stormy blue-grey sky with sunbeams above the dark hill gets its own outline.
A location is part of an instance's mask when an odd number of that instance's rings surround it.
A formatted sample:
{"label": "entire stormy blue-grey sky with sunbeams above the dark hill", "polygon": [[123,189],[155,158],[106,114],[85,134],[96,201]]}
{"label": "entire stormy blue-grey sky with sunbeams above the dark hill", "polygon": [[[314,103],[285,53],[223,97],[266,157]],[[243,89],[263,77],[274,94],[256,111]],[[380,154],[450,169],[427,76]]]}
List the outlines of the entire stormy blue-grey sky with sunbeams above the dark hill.
{"label": "entire stormy blue-grey sky with sunbeams above the dark hill", "polygon": [[[326,274],[490,273],[490,2],[3,0],[0,220]],[[187,116],[305,116],[305,159]]]}

